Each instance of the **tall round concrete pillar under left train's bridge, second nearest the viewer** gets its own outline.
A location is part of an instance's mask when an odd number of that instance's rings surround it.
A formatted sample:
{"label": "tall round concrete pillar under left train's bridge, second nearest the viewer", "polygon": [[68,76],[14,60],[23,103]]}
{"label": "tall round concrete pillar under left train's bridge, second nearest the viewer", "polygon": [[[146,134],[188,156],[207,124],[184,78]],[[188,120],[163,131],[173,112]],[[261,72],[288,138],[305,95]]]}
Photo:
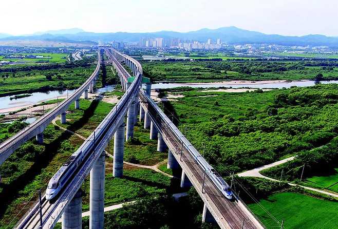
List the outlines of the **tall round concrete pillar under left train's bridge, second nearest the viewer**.
{"label": "tall round concrete pillar under left train's bridge, second nearest the viewer", "polygon": [[103,229],[105,154],[94,163],[90,170],[89,229]]}

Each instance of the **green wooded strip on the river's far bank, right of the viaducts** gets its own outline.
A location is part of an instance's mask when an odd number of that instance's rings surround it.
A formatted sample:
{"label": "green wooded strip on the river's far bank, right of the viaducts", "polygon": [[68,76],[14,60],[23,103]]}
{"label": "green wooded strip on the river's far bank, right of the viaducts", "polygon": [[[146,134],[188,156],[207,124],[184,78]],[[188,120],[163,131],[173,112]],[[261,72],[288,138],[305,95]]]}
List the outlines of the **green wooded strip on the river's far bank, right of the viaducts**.
{"label": "green wooded strip on the river's far bank, right of the viaducts", "polygon": [[337,61],[161,61],[142,62],[153,81],[208,82],[224,80],[304,80],[338,78]]}

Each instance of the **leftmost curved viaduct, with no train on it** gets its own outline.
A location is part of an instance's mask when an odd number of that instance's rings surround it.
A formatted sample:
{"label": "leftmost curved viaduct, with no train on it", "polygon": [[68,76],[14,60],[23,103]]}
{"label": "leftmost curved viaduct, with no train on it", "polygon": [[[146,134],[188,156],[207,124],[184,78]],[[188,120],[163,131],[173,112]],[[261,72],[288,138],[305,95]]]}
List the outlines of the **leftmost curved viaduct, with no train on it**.
{"label": "leftmost curved viaduct, with no train on it", "polygon": [[20,147],[23,143],[33,138],[39,133],[42,133],[43,130],[47,127],[47,125],[59,114],[66,112],[68,106],[74,102],[76,99],[81,97],[81,94],[87,90],[89,84],[97,77],[100,70],[101,56],[100,49],[98,51],[98,64],[95,68],[95,71],[90,75],[88,80],[81,85],[73,94],[71,94],[68,99],[65,99],[62,103],[59,104],[58,107],[55,107],[40,119],[36,120],[25,129],[16,133],[16,135],[7,139],[3,143],[0,144],[0,165],[4,163],[4,161],[14,152],[15,149]]}

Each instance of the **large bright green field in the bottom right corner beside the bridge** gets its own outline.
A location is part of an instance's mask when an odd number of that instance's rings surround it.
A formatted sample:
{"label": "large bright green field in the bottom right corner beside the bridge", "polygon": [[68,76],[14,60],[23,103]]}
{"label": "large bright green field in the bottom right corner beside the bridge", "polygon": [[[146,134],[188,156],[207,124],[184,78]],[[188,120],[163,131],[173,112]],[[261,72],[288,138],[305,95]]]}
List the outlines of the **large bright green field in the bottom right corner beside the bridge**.
{"label": "large bright green field in the bottom right corner beside the bridge", "polygon": [[[338,228],[338,203],[334,201],[298,193],[277,193],[259,203],[279,222],[284,220],[284,228],[287,229]],[[249,204],[249,207],[267,228],[280,228],[257,204]]]}

